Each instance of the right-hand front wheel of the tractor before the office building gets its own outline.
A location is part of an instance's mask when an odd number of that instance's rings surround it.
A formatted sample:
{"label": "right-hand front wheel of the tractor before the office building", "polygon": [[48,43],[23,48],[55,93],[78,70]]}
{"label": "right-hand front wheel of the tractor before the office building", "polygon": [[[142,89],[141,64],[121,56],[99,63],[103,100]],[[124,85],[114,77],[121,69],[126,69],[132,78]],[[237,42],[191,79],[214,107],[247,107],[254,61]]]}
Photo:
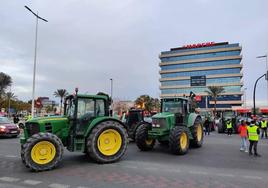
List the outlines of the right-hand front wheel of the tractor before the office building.
{"label": "right-hand front wheel of the tractor before the office building", "polygon": [[189,134],[184,126],[176,126],[169,135],[169,148],[175,155],[184,155],[189,150]]}

